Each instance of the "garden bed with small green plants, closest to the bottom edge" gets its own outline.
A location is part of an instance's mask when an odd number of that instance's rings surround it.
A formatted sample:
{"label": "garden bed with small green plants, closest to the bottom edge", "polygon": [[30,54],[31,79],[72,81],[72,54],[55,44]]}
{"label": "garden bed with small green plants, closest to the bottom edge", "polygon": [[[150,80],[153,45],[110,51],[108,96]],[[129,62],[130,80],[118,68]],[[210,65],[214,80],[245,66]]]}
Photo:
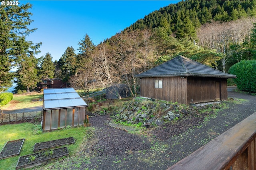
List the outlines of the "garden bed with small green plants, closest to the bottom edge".
{"label": "garden bed with small green plants, closest to the bottom edge", "polygon": [[20,168],[32,168],[32,167],[38,166],[46,161],[56,159],[56,158],[66,156],[66,155],[68,155],[67,147],[46,150],[43,152],[20,156],[17,166],[16,166],[16,170],[20,169]]}

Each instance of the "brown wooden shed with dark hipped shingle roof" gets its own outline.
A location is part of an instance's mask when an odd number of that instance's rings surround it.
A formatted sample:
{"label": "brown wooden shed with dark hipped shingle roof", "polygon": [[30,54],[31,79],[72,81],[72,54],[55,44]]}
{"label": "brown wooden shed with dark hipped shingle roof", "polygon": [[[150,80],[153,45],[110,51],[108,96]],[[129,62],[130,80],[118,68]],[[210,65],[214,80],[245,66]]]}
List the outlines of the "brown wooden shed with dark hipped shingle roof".
{"label": "brown wooden shed with dark hipped shingle roof", "polygon": [[181,55],[135,77],[141,97],[182,104],[227,100],[227,78],[236,78]]}

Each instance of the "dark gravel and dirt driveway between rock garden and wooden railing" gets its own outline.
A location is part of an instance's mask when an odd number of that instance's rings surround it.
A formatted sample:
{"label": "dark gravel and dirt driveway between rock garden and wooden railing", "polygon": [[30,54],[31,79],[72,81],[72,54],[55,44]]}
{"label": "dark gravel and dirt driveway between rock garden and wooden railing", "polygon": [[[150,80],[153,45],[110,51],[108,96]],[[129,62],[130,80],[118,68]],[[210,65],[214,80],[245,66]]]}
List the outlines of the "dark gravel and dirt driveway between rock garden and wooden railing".
{"label": "dark gravel and dirt driveway between rock garden and wooden railing", "polygon": [[166,123],[142,133],[136,133],[136,129],[127,133],[114,128],[108,124],[108,115],[90,118],[96,129],[88,134],[90,142],[76,158],[47,169],[166,170],[256,111],[256,96],[228,91],[228,97],[246,101],[228,102],[228,109],[220,108],[212,116],[191,116],[179,119],[175,125]]}

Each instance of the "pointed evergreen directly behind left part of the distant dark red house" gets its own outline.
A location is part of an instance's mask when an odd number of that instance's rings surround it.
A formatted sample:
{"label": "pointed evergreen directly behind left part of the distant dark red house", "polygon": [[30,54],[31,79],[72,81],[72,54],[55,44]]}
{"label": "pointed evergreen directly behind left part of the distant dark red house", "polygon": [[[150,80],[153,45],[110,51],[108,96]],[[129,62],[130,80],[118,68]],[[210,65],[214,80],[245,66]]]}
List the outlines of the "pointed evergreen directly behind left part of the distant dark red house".
{"label": "pointed evergreen directly behind left part of the distant dark red house", "polygon": [[54,76],[54,64],[52,62],[52,55],[46,53],[41,57],[42,63],[39,70],[40,78],[53,78]]}

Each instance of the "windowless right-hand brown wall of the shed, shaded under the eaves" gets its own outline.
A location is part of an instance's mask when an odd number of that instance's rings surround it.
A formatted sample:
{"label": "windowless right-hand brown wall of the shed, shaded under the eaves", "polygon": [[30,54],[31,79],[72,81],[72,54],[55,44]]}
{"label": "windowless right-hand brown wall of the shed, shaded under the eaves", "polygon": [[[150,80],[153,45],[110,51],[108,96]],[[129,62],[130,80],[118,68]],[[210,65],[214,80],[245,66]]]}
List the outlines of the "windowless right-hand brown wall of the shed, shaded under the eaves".
{"label": "windowless right-hand brown wall of the shed, shaded under the eaves", "polygon": [[226,78],[188,77],[187,78],[187,104],[227,100]]}

